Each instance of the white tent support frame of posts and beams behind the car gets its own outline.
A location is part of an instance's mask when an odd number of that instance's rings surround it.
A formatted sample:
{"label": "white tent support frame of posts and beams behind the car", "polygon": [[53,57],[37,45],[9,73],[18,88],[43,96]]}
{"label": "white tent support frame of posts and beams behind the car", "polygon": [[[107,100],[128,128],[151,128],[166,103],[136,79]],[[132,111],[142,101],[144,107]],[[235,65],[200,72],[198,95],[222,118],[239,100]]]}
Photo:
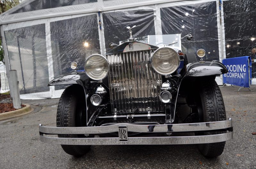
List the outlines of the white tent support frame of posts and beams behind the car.
{"label": "white tent support frame of posts and beams behind the car", "polygon": [[[137,0],[131,0],[131,1],[135,2]],[[14,20],[9,20],[8,22],[4,21],[3,19],[0,19],[0,24],[4,24],[4,25],[1,25],[1,34],[3,36],[4,54],[5,54],[4,59],[8,60],[8,52],[7,52],[7,47],[6,47],[6,43],[5,43],[4,31],[11,30],[11,29],[16,29],[16,28],[20,28],[20,27],[25,27],[25,26],[45,24],[46,50],[47,50],[47,60],[48,60],[49,81],[51,81],[54,77],[54,73],[53,73],[53,63],[52,63],[50,22],[69,19],[69,18],[76,18],[76,17],[86,16],[86,15],[97,14],[98,29],[99,29],[99,40],[100,40],[100,53],[102,55],[104,55],[105,51],[106,51],[106,48],[105,48],[105,37],[104,37],[104,20],[103,20],[103,17],[102,17],[102,13],[108,13],[108,12],[114,12],[114,11],[130,11],[130,10],[140,10],[140,9],[153,9],[154,10],[155,32],[156,32],[156,34],[161,35],[162,34],[162,25],[161,25],[160,8],[187,5],[187,4],[204,3],[204,2],[212,2],[212,1],[216,1],[216,3],[217,3],[217,5],[216,5],[217,9],[216,10],[217,10],[217,20],[218,20],[217,22],[218,22],[218,39],[219,39],[219,57],[220,57],[219,59],[221,61],[221,60],[226,58],[226,55],[225,55],[223,8],[221,8],[221,16],[220,16],[219,0],[193,0],[193,1],[190,1],[190,0],[187,0],[187,1],[184,1],[184,0],[169,0],[169,1],[161,0],[161,1],[150,1],[150,2],[146,1],[146,0],[142,0],[142,2],[140,2],[139,4],[130,3],[126,6],[116,5],[115,7],[109,7],[108,6],[111,3],[113,3],[113,0],[109,0],[109,1],[98,0],[97,3],[90,3],[89,5],[103,4],[103,5],[106,5],[106,6],[104,8],[100,8],[100,9],[99,9],[99,7],[93,8],[93,10],[94,10],[93,12],[90,11],[90,9],[87,9],[85,11],[83,11],[84,9],[80,10],[80,11],[79,10],[76,11],[76,9],[78,7],[80,7],[80,8],[85,8],[86,6],[88,7],[88,4],[82,4],[82,5],[72,5],[72,6],[68,6],[68,7],[67,6],[60,7],[60,9],[63,9],[65,12],[67,12],[66,9],[69,9],[69,11],[67,13],[64,12],[64,13],[56,14],[56,12],[53,12],[51,14],[51,16],[46,14],[45,16],[41,16],[41,17],[26,18],[28,21],[23,21],[22,18],[18,17],[22,13],[12,14],[12,16],[17,16],[18,18],[16,20],[15,19]],[[120,1],[120,2],[123,2],[123,1]],[[136,7],[134,7],[134,6],[136,6]],[[73,11],[70,10],[72,8],[73,8]],[[113,10],[113,8],[115,10]],[[47,10],[50,10],[50,9],[46,9],[46,11]],[[45,11],[45,10],[38,10],[38,11]],[[24,12],[24,13],[29,13],[29,14],[33,15],[38,11],[31,11],[31,12]],[[100,11],[101,30],[100,30],[100,25],[99,25],[98,11]],[[5,15],[5,16],[8,16],[8,15]],[[222,21],[221,24],[220,24],[220,17],[222,18],[221,19],[221,21]],[[20,19],[19,22],[17,21],[18,19]],[[34,20],[34,19],[36,19],[36,20]],[[8,61],[8,66],[6,66],[7,76],[9,75],[9,70],[10,70],[10,63]],[[222,83],[222,78],[217,77],[216,81],[218,82],[218,84],[221,84]],[[23,95],[21,95],[21,99],[58,98],[58,97],[60,97],[62,92],[63,92],[63,90],[55,90],[54,86],[52,86],[52,87],[50,87],[49,92],[23,94]]]}

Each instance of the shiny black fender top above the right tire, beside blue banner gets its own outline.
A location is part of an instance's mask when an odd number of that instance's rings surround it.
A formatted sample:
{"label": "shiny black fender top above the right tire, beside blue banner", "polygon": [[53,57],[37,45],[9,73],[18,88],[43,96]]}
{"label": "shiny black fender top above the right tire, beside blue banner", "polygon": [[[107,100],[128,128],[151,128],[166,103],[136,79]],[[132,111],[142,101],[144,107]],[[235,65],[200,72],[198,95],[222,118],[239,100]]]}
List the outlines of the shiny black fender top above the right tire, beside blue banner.
{"label": "shiny black fender top above the right tire, beside blue banner", "polygon": [[194,62],[186,66],[184,77],[212,76],[228,73],[228,69],[219,61]]}

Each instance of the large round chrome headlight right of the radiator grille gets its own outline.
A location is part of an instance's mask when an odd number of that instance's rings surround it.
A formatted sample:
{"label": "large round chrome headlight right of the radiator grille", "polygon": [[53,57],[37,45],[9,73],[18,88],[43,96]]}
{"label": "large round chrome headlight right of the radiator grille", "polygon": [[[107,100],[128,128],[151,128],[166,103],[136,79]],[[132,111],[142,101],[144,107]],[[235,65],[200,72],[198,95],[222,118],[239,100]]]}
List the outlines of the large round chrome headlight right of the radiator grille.
{"label": "large round chrome headlight right of the radiator grille", "polygon": [[180,66],[180,56],[172,48],[162,47],[155,51],[152,56],[152,67],[162,75],[169,75],[175,72]]}

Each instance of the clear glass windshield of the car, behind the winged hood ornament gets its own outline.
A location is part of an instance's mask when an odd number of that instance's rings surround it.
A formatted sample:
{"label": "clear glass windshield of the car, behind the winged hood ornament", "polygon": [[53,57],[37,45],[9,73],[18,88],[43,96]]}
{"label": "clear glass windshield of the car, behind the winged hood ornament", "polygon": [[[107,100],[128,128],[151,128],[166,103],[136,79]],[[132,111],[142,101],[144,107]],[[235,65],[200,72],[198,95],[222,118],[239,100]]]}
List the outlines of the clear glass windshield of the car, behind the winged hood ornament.
{"label": "clear glass windshield of the car, behind the winged hood ornament", "polygon": [[[135,41],[150,44],[153,46],[172,46],[173,48],[181,49],[180,34],[168,34],[168,35],[147,35],[134,38]],[[119,45],[125,41],[120,41]],[[176,43],[177,42],[177,43]],[[172,44],[172,45],[169,45]]]}

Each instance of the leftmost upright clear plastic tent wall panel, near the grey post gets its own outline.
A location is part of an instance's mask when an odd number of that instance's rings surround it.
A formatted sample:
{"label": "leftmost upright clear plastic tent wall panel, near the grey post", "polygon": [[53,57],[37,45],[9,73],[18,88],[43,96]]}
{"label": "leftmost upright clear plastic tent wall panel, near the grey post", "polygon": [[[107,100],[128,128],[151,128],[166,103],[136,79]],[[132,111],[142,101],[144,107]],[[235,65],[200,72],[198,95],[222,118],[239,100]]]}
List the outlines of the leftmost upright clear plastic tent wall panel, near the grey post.
{"label": "leftmost upright clear plastic tent wall panel, near the grey post", "polygon": [[20,94],[49,91],[45,25],[4,31],[10,67],[17,70]]}

